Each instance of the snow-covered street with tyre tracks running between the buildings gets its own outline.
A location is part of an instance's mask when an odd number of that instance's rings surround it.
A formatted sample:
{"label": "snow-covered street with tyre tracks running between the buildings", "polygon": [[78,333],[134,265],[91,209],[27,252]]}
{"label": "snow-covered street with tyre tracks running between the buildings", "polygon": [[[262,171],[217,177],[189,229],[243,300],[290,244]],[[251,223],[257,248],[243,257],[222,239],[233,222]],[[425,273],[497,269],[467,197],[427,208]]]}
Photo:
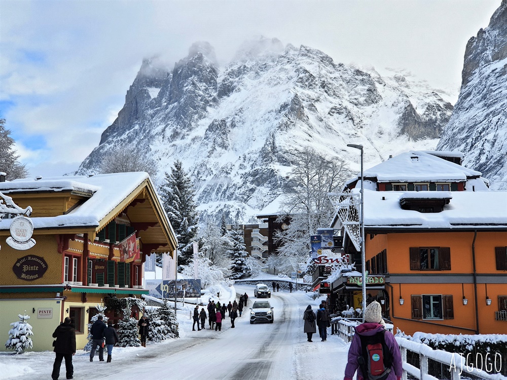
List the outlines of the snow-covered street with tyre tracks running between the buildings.
{"label": "snow-covered street with tyre tracks running between the buildings", "polygon": [[[137,379],[149,374],[158,379],[260,380],[307,379],[322,373],[331,380],[343,378],[348,345],[337,335],[329,335],[331,329],[325,342],[320,341],[318,333],[313,343],[306,341],[303,311],[308,305],[314,311],[318,307],[318,299],[311,299],[311,293],[273,293],[268,300],[274,307],[274,323],[250,325],[249,307],[256,300],[253,287],[235,289],[249,295],[248,309],[236,319],[235,328],[231,328],[226,315],[222,331],[210,330],[207,321],[204,330],[192,331],[189,315],[193,306],[186,305],[187,313],[178,310],[180,339],[148,343],[147,348],[115,347],[112,363],[99,362],[97,354],[90,363],[89,353],[79,350],[73,360],[74,378]],[[48,379],[53,361],[52,352],[0,355],[0,379]],[[14,367],[24,370],[15,373]],[[18,376],[13,377],[15,374]],[[64,363],[61,378],[65,378]]]}

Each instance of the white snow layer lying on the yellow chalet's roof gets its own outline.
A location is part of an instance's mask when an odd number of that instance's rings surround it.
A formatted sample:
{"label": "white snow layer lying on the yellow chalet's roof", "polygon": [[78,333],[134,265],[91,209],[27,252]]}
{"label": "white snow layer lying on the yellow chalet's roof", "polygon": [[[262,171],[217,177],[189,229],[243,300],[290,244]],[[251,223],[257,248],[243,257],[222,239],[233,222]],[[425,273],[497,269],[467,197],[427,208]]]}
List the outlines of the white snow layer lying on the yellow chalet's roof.
{"label": "white snow layer lying on the yellow chalet's roof", "polygon": [[[93,176],[48,177],[41,179],[17,179],[0,182],[0,192],[13,195],[19,192],[79,191],[91,198],[66,215],[32,217],[35,229],[72,226],[98,226],[100,221],[123,202],[136,187],[149,179],[148,173],[112,173]],[[0,221],[0,230],[7,230],[11,219]]]}

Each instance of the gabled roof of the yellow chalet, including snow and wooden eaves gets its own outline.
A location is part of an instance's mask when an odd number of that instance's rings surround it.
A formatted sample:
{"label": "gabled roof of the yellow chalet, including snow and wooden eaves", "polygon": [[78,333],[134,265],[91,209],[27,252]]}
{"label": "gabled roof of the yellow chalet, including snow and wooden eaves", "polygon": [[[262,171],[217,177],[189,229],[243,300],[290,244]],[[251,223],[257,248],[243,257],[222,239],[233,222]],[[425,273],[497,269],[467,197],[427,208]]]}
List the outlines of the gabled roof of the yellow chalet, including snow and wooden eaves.
{"label": "gabled roof of the yellow chalet, including snow and wooden eaves", "polygon": [[[69,191],[85,195],[84,202],[64,215],[32,217],[35,234],[88,233],[93,240],[98,231],[130,206],[128,216],[131,222],[137,224],[134,227],[141,231],[141,241],[154,244],[150,248],[164,243],[152,251],[168,251],[170,246],[176,246],[174,231],[147,173],[25,178],[0,182],[0,192],[14,198],[16,194],[43,197],[49,193]],[[0,221],[0,232],[9,230],[10,224],[11,219]]]}

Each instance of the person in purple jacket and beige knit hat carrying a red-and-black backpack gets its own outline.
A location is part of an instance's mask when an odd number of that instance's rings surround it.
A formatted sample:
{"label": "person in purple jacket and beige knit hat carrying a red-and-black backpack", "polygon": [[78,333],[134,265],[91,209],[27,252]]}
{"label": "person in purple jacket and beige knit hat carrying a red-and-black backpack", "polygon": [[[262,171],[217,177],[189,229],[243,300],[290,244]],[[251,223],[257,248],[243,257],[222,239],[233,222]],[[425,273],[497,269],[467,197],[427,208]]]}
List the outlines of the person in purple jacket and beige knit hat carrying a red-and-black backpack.
{"label": "person in purple jacket and beige knit hat carrying a red-and-black backpack", "polygon": [[[376,360],[382,367],[378,370],[384,369],[383,373],[378,372],[378,375],[385,374],[389,371],[386,380],[400,380],[402,378],[402,357],[400,348],[390,331],[385,330],[385,323],[382,319],[382,307],[377,301],[373,301],[367,306],[365,311],[365,323],[361,323],[355,327],[355,334],[352,337],[352,342],[349,347],[347,365],[345,366],[344,380],[352,380],[356,370],[361,370],[357,374],[358,377],[369,378],[368,376],[368,357],[369,354],[367,345],[372,343],[381,343],[383,350],[381,351],[383,358]],[[386,353],[384,351],[389,352]],[[378,353],[375,353],[377,357]],[[386,358],[386,356],[388,356]],[[362,363],[362,364],[361,364]],[[387,364],[387,365],[386,365]]]}

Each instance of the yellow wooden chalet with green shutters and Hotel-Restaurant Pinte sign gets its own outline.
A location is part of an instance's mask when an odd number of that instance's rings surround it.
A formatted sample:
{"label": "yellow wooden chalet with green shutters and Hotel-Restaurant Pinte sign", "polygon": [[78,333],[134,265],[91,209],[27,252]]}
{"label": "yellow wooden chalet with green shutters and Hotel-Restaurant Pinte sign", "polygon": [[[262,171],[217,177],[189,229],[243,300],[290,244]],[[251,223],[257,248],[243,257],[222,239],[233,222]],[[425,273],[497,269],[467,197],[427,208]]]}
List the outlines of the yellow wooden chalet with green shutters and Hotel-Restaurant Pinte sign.
{"label": "yellow wooden chalet with green shutters and Hotel-Restaurant Pinte sign", "polygon": [[[176,237],[147,173],[18,179],[0,193],[31,206],[35,245],[12,248],[0,221],[0,349],[10,323],[30,316],[33,350],[52,350],[52,333],[65,318],[76,327],[77,348],[104,298],[140,297],[146,255],[173,255]],[[2,199],[0,199],[2,201]],[[123,242],[123,244],[122,244]],[[134,243],[131,251],[125,243]],[[131,245],[132,247],[132,245]],[[132,254],[130,254],[132,253]]]}

